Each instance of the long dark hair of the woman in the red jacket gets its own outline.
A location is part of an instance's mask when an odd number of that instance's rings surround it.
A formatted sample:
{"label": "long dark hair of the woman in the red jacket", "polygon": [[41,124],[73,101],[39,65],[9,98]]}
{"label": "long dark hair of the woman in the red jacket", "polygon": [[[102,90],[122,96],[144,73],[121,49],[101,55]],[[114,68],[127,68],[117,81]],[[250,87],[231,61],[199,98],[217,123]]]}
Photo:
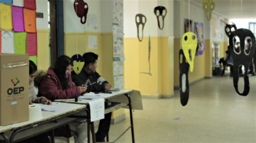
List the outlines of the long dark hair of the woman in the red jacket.
{"label": "long dark hair of the woman in the red jacket", "polygon": [[58,57],[54,67],[54,73],[58,76],[59,81],[63,90],[70,88],[69,80],[66,78],[66,69],[69,65],[73,66],[73,61],[66,55],[61,55]]}

